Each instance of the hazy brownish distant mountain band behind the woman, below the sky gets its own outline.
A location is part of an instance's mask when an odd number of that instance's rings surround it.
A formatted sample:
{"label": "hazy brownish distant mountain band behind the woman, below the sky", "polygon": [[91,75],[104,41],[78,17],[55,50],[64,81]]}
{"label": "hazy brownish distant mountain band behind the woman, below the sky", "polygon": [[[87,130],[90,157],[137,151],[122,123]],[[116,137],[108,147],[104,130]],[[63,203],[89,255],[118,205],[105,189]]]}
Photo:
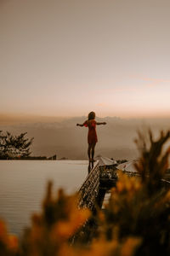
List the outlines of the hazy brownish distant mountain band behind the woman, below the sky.
{"label": "hazy brownish distant mountain band behind the woman, below the sky", "polygon": [[[34,119],[26,121],[22,119],[4,123],[0,121],[0,130],[11,131],[14,134],[28,132],[28,137],[34,137],[31,147],[32,155],[57,154],[59,158],[87,159],[87,136],[86,127],[77,127],[86,117],[73,118],[42,118],[37,122]],[[99,143],[95,154],[102,154],[113,159],[135,158],[136,146],[133,143],[137,137],[139,128],[150,126],[155,134],[161,129],[169,129],[170,119],[120,119],[116,117],[98,118],[99,121],[107,122],[107,125],[98,126],[97,133]],[[42,120],[42,121],[41,121]],[[7,120],[6,120],[7,121]]]}

